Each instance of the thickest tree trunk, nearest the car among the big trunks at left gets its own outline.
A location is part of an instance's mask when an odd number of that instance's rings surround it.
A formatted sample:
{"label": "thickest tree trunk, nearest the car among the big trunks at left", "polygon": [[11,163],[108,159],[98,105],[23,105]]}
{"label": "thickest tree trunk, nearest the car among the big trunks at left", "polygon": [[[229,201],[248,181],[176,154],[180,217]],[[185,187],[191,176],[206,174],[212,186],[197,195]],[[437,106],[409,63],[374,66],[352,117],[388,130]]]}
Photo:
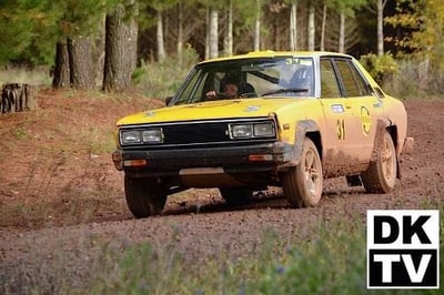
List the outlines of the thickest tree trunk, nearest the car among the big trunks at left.
{"label": "thickest tree trunk, nearest the car among the big trunks at left", "polygon": [[119,6],[107,16],[105,28],[103,91],[128,91],[137,62],[135,16],[127,16],[123,6]]}

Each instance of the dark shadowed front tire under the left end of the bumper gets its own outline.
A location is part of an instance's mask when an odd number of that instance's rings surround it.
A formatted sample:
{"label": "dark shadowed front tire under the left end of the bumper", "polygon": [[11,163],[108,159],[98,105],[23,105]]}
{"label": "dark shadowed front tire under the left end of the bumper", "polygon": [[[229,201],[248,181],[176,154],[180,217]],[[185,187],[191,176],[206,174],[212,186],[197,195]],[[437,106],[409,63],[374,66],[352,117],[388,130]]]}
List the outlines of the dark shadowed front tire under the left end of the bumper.
{"label": "dark shadowed front tire under the left end of the bumper", "polygon": [[124,176],[127,205],[137,218],[145,218],[162,213],[167,203],[167,187],[152,179]]}

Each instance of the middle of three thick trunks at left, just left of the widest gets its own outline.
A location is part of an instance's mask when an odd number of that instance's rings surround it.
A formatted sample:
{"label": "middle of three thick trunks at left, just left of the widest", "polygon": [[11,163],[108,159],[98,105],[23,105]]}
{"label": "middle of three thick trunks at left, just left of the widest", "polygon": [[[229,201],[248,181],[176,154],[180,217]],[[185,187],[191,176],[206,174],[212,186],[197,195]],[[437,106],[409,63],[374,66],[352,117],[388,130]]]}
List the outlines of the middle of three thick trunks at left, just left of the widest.
{"label": "middle of three thick trunks at left, just left of the widest", "polygon": [[68,38],[70,82],[72,88],[90,90],[95,87],[95,61],[92,58],[91,39]]}

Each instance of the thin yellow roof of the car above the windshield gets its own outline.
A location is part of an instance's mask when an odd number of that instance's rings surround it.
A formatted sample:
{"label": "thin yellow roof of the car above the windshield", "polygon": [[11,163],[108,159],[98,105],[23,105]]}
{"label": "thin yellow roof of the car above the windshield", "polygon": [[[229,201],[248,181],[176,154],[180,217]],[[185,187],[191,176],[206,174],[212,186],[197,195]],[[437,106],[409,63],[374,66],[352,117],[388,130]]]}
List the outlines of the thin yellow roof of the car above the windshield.
{"label": "thin yellow roof of the car above the windshield", "polygon": [[312,58],[320,58],[320,57],[342,57],[342,58],[352,58],[345,53],[339,52],[330,52],[330,51],[273,51],[273,50],[264,50],[264,51],[252,51],[245,54],[236,54],[231,57],[224,58],[215,58],[201,61],[202,63],[208,62],[218,62],[218,61],[229,61],[229,60],[242,60],[242,59],[258,59],[258,58],[279,58],[279,57],[312,57]]}

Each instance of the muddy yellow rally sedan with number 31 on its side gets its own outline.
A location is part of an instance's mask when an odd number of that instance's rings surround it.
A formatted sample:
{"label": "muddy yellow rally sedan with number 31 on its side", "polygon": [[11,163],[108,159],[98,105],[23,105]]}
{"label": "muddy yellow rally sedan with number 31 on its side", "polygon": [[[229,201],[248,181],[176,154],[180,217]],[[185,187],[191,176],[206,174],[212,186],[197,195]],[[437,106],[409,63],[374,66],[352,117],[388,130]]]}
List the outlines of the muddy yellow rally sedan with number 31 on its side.
{"label": "muddy yellow rally sedan with number 31 on its side", "polygon": [[282,186],[293,207],[314,206],[323,179],[387,193],[410,150],[403,103],[352,57],[262,51],[198,63],[167,106],[121,119],[112,160],[135,217],[167,196],[219,187],[232,204]]}

